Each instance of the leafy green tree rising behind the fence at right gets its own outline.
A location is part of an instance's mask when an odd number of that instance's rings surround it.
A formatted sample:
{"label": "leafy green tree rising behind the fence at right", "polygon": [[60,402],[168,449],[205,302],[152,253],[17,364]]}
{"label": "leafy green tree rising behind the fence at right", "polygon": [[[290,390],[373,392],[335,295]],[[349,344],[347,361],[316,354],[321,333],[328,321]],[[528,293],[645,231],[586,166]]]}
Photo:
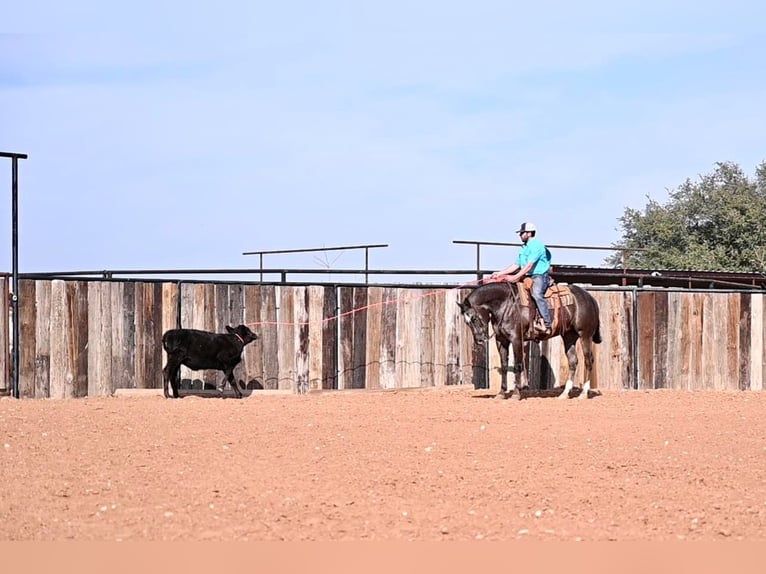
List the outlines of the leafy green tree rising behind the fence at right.
{"label": "leafy green tree rising behind the fence at right", "polygon": [[[687,179],[668,201],[647,197],[643,211],[626,208],[615,248],[637,269],[766,271],[766,162],[748,178],[734,163],[718,163],[698,181]],[[621,267],[623,255],[606,259]]]}

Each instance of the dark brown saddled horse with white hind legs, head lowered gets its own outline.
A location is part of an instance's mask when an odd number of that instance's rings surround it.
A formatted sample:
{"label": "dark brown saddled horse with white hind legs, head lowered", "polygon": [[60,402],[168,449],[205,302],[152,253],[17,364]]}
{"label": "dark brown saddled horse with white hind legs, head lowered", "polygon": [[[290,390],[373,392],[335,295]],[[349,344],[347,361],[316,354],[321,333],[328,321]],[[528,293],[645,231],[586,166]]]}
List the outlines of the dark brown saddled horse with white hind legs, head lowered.
{"label": "dark brown saddled horse with white hind legs, head lowered", "polygon": [[[463,301],[458,300],[460,312],[471,327],[474,341],[484,344],[487,341],[489,323],[495,333],[497,350],[500,353],[500,373],[502,383],[498,398],[521,399],[520,389],[528,385],[528,357],[524,343],[528,340],[543,340],[560,336],[564,341],[569,362],[569,379],[558,398],[564,399],[574,388],[574,376],[577,371],[577,348],[579,340],[585,359],[585,382],[580,398],[588,398],[590,377],[593,369],[592,343],[601,342],[598,303],[593,296],[577,285],[557,285],[568,294],[566,298],[554,301],[551,311],[553,332],[542,339],[534,333],[537,308],[529,296],[524,296],[522,287],[516,283],[497,281],[484,283],[475,288]],[[551,293],[549,288],[548,293]],[[571,294],[571,295],[570,295]],[[527,294],[528,295],[528,294]],[[561,297],[553,295],[552,297]],[[546,294],[546,300],[548,299]],[[531,304],[530,304],[531,302]],[[556,304],[558,303],[558,304]],[[508,391],[508,348],[513,345],[514,381]]]}

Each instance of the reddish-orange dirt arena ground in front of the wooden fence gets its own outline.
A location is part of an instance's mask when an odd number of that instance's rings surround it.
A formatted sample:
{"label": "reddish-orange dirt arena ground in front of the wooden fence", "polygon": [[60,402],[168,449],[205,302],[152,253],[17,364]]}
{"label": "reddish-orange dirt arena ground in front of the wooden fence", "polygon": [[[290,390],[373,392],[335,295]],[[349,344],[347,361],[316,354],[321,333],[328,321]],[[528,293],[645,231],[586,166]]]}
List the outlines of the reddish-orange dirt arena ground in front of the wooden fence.
{"label": "reddish-orange dirt arena ground in front of the wooden fence", "polygon": [[766,393],[0,400],[0,540],[763,540]]}

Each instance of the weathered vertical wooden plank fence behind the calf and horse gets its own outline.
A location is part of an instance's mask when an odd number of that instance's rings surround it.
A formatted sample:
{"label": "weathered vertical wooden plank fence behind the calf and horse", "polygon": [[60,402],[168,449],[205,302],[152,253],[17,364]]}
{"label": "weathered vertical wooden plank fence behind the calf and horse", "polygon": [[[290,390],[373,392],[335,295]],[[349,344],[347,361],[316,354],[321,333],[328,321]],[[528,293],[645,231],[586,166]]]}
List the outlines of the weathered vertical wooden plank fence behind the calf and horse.
{"label": "weathered vertical wooden plank fence behind the calf and horse", "polygon": [[[8,280],[2,295],[8,300]],[[467,291],[376,286],[281,286],[22,279],[22,397],[108,395],[161,388],[162,333],[222,332],[246,323],[259,339],[235,376],[249,389],[376,389],[499,385],[494,341],[476,346],[456,300]],[[592,290],[603,342],[600,389],[762,389],[764,295],[750,292]],[[10,348],[8,309],[0,345]],[[529,344],[533,387],[567,377],[559,338]],[[580,357],[582,364],[582,357]],[[8,389],[10,352],[0,353]],[[182,369],[182,388],[222,374]],[[576,379],[582,383],[582,373]]]}

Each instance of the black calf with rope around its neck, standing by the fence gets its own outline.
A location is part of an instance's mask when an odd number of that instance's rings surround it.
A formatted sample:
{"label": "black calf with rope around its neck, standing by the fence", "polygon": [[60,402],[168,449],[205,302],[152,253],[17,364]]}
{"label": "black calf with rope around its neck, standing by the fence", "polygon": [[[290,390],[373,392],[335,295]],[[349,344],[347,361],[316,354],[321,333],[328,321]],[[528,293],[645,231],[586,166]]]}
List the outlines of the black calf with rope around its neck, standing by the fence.
{"label": "black calf with rope around its neck, standing by the fence", "polygon": [[247,326],[236,329],[226,326],[226,333],[209,333],[196,329],[171,329],[162,335],[162,346],[168,354],[168,362],[162,370],[165,397],[170,398],[168,385],[173,388],[173,398],[178,398],[178,369],[186,365],[193,371],[216,369],[226,375],[218,385],[223,392],[226,381],[237,395],[242,397],[239,385],[234,382],[234,367],[242,360],[245,345],[255,341],[258,335]]}

